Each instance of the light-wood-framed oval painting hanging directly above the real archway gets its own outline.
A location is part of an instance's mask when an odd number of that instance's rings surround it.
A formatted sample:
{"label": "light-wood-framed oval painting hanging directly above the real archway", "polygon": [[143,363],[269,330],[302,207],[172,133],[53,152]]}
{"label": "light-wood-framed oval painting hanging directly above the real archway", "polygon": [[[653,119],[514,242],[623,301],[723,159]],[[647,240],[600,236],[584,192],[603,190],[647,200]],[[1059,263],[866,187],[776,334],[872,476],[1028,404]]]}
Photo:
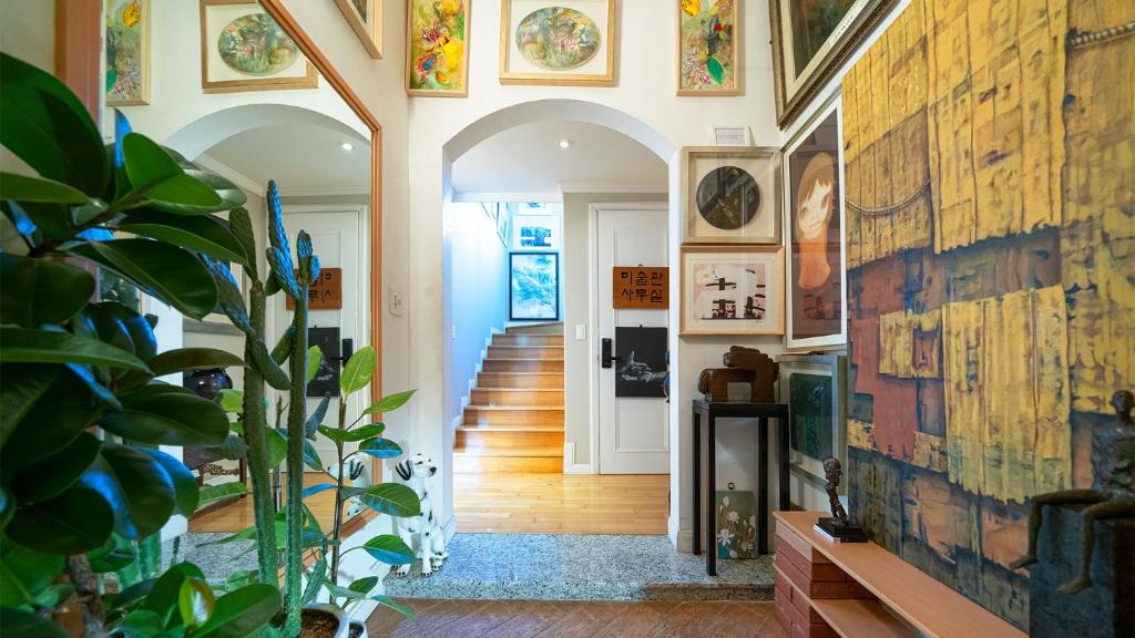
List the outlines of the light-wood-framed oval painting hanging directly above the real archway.
{"label": "light-wood-framed oval painting hanging directly above the real archway", "polygon": [[614,86],[615,0],[503,0],[501,84]]}

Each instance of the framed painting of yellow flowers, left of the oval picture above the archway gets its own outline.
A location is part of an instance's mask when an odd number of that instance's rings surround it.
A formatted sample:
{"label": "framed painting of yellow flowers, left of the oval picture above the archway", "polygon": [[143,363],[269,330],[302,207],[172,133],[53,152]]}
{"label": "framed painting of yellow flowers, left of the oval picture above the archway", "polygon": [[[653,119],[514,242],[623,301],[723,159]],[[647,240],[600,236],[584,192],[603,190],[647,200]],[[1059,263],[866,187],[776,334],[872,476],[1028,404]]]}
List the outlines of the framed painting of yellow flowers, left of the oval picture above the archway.
{"label": "framed painting of yellow flowers, left of the oval picture above the archway", "polygon": [[472,0],[407,0],[406,95],[469,94],[469,6]]}

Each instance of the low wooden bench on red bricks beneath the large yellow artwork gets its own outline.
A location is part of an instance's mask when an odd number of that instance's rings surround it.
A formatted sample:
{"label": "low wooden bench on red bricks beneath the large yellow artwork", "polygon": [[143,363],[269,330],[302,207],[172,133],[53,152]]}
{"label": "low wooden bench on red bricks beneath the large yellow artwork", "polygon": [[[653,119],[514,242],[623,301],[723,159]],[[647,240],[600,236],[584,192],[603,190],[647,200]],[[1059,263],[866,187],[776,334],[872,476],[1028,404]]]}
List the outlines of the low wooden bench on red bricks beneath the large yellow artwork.
{"label": "low wooden bench on red bricks beneath the large yellow artwork", "polygon": [[[822,512],[774,512],[776,618],[826,624],[843,638],[1026,638],[874,543],[832,543],[813,527]],[[819,628],[824,633],[826,630]],[[812,635],[808,632],[808,635]]]}

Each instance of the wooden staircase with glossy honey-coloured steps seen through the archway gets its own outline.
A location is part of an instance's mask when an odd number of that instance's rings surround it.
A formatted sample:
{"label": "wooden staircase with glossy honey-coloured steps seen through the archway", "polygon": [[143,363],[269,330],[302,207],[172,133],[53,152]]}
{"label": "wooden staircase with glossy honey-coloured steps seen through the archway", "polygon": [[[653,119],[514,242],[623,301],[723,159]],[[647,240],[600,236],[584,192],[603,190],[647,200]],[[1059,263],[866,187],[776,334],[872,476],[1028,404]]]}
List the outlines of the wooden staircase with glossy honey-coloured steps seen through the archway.
{"label": "wooden staircase with glossy honey-coloured steps seen through the archway", "polygon": [[456,472],[564,469],[563,324],[493,335],[454,443]]}

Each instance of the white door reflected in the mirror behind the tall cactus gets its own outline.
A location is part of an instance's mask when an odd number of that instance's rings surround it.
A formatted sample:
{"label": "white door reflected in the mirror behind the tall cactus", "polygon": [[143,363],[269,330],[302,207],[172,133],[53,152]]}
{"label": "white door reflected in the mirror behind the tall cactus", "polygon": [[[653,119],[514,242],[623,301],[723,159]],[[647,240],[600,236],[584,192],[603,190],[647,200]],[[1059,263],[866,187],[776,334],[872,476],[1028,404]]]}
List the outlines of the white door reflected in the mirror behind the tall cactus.
{"label": "white door reflected in the mirror behind the tall cactus", "polygon": [[[343,271],[343,308],[339,310],[312,310],[308,313],[309,328],[339,328],[339,339],[352,339],[354,350],[367,345],[369,321],[364,317],[368,308],[364,301],[368,266],[361,259],[365,254],[362,245],[365,237],[363,212],[343,207],[285,207],[284,229],[292,245],[292,258],[295,259],[295,238],[300,230],[311,235],[311,244],[319,257],[320,268],[339,268]],[[279,339],[292,321],[292,312],[285,307],[284,294],[271,297],[268,333],[271,335],[269,347]],[[342,344],[342,341],[339,342]],[[339,362],[342,370],[343,362]],[[370,398],[369,393],[360,392],[347,404],[347,422],[361,413],[367,405],[363,401]],[[320,398],[308,397],[308,411],[311,413],[319,405]],[[323,423],[335,426],[338,420],[339,398],[331,396]],[[275,414],[275,410],[269,412]],[[335,445],[320,436],[314,443],[323,467],[335,461]],[[347,446],[353,451],[353,446]]]}

